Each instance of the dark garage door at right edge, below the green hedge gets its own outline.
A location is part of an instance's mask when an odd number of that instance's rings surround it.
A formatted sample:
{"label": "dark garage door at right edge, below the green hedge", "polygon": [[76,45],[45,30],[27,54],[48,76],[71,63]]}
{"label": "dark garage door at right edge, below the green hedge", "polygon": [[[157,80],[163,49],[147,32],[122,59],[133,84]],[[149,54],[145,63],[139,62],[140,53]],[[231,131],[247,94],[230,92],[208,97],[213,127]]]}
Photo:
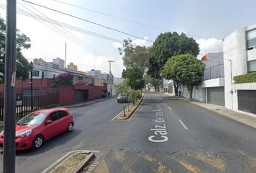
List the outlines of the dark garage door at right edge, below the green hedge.
{"label": "dark garage door at right edge, below the green hedge", "polygon": [[237,90],[238,110],[256,114],[256,90]]}

